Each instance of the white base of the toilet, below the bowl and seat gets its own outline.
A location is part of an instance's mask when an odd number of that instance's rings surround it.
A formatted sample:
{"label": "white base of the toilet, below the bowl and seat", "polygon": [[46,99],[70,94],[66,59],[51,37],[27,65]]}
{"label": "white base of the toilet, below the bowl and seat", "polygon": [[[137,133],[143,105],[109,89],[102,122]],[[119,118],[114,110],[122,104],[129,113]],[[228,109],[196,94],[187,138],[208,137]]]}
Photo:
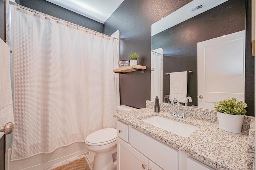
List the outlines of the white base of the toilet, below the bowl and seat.
{"label": "white base of the toilet, below the bowl and seat", "polygon": [[108,153],[95,153],[92,170],[112,170],[116,168],[116,161],[113,156],[116,147]]}

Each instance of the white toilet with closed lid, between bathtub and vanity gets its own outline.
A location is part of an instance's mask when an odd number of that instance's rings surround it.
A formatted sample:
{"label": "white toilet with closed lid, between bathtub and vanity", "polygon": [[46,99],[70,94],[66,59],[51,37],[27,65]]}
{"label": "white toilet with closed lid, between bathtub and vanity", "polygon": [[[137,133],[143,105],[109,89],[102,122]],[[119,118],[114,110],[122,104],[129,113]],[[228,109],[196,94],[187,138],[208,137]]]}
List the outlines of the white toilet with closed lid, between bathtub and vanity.
{"label": "white toilet with closed lid, between bathtub and vanity", "polygon": [[[118,112],[136,110],[130,106],[117,106]],[[88,150],[95,152],[93,170],[114,170],[116,161],[112,154],[116,153],[117,132],[114,128],[97,130],[86,137],[85,146]]]}

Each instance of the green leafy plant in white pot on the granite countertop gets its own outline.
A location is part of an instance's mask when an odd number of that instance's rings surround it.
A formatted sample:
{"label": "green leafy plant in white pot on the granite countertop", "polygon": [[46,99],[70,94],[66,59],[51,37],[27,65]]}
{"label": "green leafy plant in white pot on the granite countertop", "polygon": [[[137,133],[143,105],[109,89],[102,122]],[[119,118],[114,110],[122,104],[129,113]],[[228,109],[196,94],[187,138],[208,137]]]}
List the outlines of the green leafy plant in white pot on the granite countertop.
{"label": "green leafy plant in white pot on the granite countertop", "polygon": [[247,104],[236,98],[227,98],[214,104],[217,111],[219,128],[232,133],[240,133],[244,122]]}

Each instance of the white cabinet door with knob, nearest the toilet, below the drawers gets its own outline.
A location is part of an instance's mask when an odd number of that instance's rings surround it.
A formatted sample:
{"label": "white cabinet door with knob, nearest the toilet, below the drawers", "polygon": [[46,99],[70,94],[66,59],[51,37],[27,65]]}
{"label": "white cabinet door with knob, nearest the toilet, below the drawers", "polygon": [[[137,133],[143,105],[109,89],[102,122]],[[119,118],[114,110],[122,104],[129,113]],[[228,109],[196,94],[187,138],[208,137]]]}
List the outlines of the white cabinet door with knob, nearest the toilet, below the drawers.
{"label": "white cabinet door with knob, nearest the toilet, below the drawers", "polygon": [[117,138],[117,156],[117,170],[148,169],[148,158],[119,137]]}

